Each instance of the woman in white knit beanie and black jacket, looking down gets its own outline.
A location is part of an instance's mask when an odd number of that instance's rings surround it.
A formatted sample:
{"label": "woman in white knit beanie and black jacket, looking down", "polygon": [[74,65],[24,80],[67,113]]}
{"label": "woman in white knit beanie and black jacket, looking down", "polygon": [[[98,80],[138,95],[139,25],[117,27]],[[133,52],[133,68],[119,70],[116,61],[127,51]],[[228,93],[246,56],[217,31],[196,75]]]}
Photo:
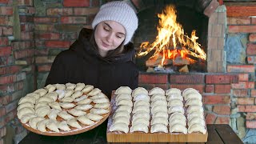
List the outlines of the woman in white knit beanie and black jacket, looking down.
{"label": "woman in white knit beanie and black jacket, looking down", "polygon": [[69,50],[54,59],[46,85],[78,83],[98,87],[109,98],[119,86],[138,87],[138,69],[132,62],[130,43],[138,18],[126,2],[102,5],[92,22],[94,30],[83,28]]}

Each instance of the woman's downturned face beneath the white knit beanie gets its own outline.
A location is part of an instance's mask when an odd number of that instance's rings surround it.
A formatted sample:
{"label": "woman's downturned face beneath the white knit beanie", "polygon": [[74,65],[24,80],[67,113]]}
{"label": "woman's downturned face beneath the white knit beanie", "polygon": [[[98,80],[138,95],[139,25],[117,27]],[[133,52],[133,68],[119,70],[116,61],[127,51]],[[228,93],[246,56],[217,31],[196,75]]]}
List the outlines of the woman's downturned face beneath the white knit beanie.
{"label": "woman's downturned face beneath the white knit beanie", "polygon": [[96,26],[94,34],[99,54],[105,57],[109,50],[114,50],[126,38],[126,29],[118,22],[104,21]]}

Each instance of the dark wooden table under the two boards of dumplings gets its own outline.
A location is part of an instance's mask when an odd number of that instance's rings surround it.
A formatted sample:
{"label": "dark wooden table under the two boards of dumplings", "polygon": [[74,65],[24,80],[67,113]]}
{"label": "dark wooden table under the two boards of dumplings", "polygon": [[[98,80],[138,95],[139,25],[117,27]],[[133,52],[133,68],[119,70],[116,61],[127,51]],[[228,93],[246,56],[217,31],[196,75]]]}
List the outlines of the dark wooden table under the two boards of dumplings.
{"label": "dark wooden table under the two boards of dumplings", "polygon": [[[229,125],[226,124],[209,124],[207,125],[208,129],[208,141],[207,144],[239,144],[243,143],[238,135],[234,133],[234,130]],[[19,144],[27,144],[27,143],[35,143],[35,144],[42,144],[42,143],[51,143],[51,144],[102,144],[106,142],[106,122],[102,125],[96,127],[93,130],[87,131],[82,134],[76,134],[71,136],[65,137],[50,137],[50,136],[43,136],[39,134],[34,134],[30,132],[26,135],[25,138]],[[184,142],[183,142],[184,143]],[[188,143],[188,142],[187,142]],[[111,143],[113,144],[113,143]],[[121,144],[121,143],[117,143]],[[124,143],[122,143],[124,144]],[[138,143],[138,144],[145,144],[145,143]],[[163,144],[166,144],[165,142]],[[195,144],[195,143],[191,143]]]}

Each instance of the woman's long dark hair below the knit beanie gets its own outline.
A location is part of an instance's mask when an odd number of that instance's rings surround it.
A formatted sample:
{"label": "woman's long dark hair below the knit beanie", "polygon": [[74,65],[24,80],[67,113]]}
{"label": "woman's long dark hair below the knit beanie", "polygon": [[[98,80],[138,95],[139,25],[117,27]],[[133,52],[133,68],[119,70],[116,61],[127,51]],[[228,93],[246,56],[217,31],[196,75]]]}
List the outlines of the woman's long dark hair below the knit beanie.
{"label": "woman's long dark hair below the knit beanie", "polygon": [[[96,54],[100,55],[99,52],[98,52],[98,46],[97,46],[97,43],[95,41],[95,38],[94,38],[94,34],[95,34],[95,30],[96,30],[96,26],[94,28],[94,32],[93,34],[91,34],[91,37],[90,37],[90,43],[93,45],[93,48],[94,48],[94,51],[96,52]],[[111,60],[119,55],[121,55],[124,51],[125,51],[125,46],[123,44],[124,42],[122,42],[118,48],[114,49],[114,50],[109,50],[106,54],[106,57],[104,57],[104,59],[106,60]]]}

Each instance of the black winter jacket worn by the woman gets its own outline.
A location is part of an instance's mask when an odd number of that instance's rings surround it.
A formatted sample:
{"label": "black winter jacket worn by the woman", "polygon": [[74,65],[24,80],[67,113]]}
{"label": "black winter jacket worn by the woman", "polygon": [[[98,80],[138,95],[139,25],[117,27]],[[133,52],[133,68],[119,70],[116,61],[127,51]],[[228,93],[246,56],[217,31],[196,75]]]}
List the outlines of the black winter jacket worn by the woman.
{"label": "black winter jacket worn by the woman", "polygon": [[106,60],[94,51],[91,34],[92,30],[83,28],[70,49],[56,56],[46,85],[83,82],[98,87],[109,98],[119,86],[138,87],[138,68],[132,62],[134,48],[130,46],[126,54]]}

